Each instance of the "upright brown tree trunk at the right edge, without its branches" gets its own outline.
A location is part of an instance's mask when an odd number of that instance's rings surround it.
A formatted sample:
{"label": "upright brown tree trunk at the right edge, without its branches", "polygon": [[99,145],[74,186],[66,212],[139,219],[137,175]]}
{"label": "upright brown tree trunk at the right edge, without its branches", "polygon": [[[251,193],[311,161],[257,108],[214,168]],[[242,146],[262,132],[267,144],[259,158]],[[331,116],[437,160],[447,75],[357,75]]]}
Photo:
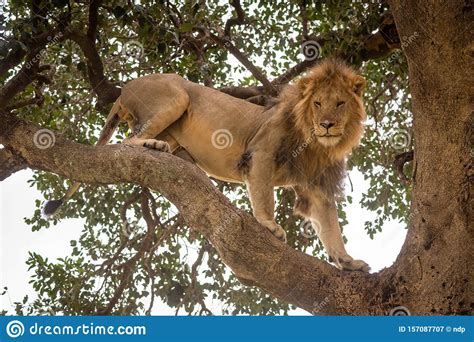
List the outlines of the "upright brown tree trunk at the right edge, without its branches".
{"label": "upright brown tree trunk at the right edge, without its branches", "polygon": [[474,305],[469,3],[390,2],[407,42],[415,139],[412,220],[394,267],[393,300],[416,314],[469,314]]}

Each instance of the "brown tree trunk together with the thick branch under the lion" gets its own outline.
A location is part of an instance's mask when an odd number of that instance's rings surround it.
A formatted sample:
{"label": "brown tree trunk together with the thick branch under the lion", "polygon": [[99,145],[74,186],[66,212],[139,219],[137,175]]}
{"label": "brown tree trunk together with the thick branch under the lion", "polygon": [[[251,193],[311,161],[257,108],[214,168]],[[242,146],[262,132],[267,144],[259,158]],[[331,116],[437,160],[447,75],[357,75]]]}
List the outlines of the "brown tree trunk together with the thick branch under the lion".
{"label": "brown tree trunk together with the thick branch under the lion", "polygon": [[[466,2],[467,3],[467,2]],[[90,147],[60,136],[38,149],[38,127],[0,113],[0,143],[31,168],[81,182],[131,182],[161,192],[242,282],[315,314],[472,314],[474,135],[472,9],[463,1],[391,1],[413,97],[414,189],[407,240],[376,274],[340,271],[277,240],[235,208],[197,167],[129,146]]]}

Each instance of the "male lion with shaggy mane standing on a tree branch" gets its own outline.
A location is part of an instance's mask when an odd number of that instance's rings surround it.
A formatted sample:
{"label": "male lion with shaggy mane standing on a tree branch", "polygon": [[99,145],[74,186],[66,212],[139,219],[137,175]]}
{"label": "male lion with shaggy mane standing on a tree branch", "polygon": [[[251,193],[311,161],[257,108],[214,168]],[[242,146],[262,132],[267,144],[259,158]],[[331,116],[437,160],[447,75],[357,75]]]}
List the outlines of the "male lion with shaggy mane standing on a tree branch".
{"label": "male lion with shaggy mane standing on a tree branch", "polygon": [[[97,144],[106,144],[126,121],[132,134],[122,144],[184,149],[209,176],[245,183],[254,217],[283,241],[274,188],[293,188],[294,211],[312,223],[329,260],[340,269],[368,272],[364,261],[346,252],[336,208],[345,160],[363,133],[364,85],[343,62],[326,60],[265,108],[176,74],[152,74],[122,88]],[[44,213],[53,214],[78,187],[74,183],[61,200],[47,203]]]}

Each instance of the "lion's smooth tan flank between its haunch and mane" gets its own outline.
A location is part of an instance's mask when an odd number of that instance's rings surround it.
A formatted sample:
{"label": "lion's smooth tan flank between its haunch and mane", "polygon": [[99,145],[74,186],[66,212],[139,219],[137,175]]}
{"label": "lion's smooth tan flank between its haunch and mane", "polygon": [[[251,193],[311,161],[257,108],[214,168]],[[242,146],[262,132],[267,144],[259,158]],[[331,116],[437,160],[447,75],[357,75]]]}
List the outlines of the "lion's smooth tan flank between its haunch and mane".
{"label": "lion's smooth tan flank between its haunch and mane", "polygon": [[238,164],[248,141],[268,118],[264,108],[189,82],[186,90],[186,113],[166,131],[207,174],[242,182]]}

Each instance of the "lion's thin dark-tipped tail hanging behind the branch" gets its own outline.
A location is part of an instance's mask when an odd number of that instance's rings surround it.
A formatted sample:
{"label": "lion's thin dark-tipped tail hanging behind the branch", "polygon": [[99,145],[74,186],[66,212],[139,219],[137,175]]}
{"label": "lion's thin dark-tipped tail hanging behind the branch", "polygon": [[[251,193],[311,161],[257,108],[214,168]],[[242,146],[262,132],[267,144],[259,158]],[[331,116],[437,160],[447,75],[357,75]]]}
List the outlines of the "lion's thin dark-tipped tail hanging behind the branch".
{"label": "lion's thin dark-tipped tail hanging behind the branch", "polygon": [[[114,105],[112,106],[112,109],[109,112],[109,115],[107,116],[107,119],[105,120],[105,125],[102,128],[102,131],[100,132],[100,137],[97,141],[96,146],[106,145],[114,134],[114,131],[120,122],[120,117],[118,116],[119,110],[120,97],[117,99],[117,101],[115,101]],[[66,194],[61,199],[46,201],[42,210],[43,215],[46,217],[54,215],[59,209],[59,207],[63,203],[67,202],[67,200],[69,200],[76,193],[80,186],[81,183],[73,182],[67,189]]]}

